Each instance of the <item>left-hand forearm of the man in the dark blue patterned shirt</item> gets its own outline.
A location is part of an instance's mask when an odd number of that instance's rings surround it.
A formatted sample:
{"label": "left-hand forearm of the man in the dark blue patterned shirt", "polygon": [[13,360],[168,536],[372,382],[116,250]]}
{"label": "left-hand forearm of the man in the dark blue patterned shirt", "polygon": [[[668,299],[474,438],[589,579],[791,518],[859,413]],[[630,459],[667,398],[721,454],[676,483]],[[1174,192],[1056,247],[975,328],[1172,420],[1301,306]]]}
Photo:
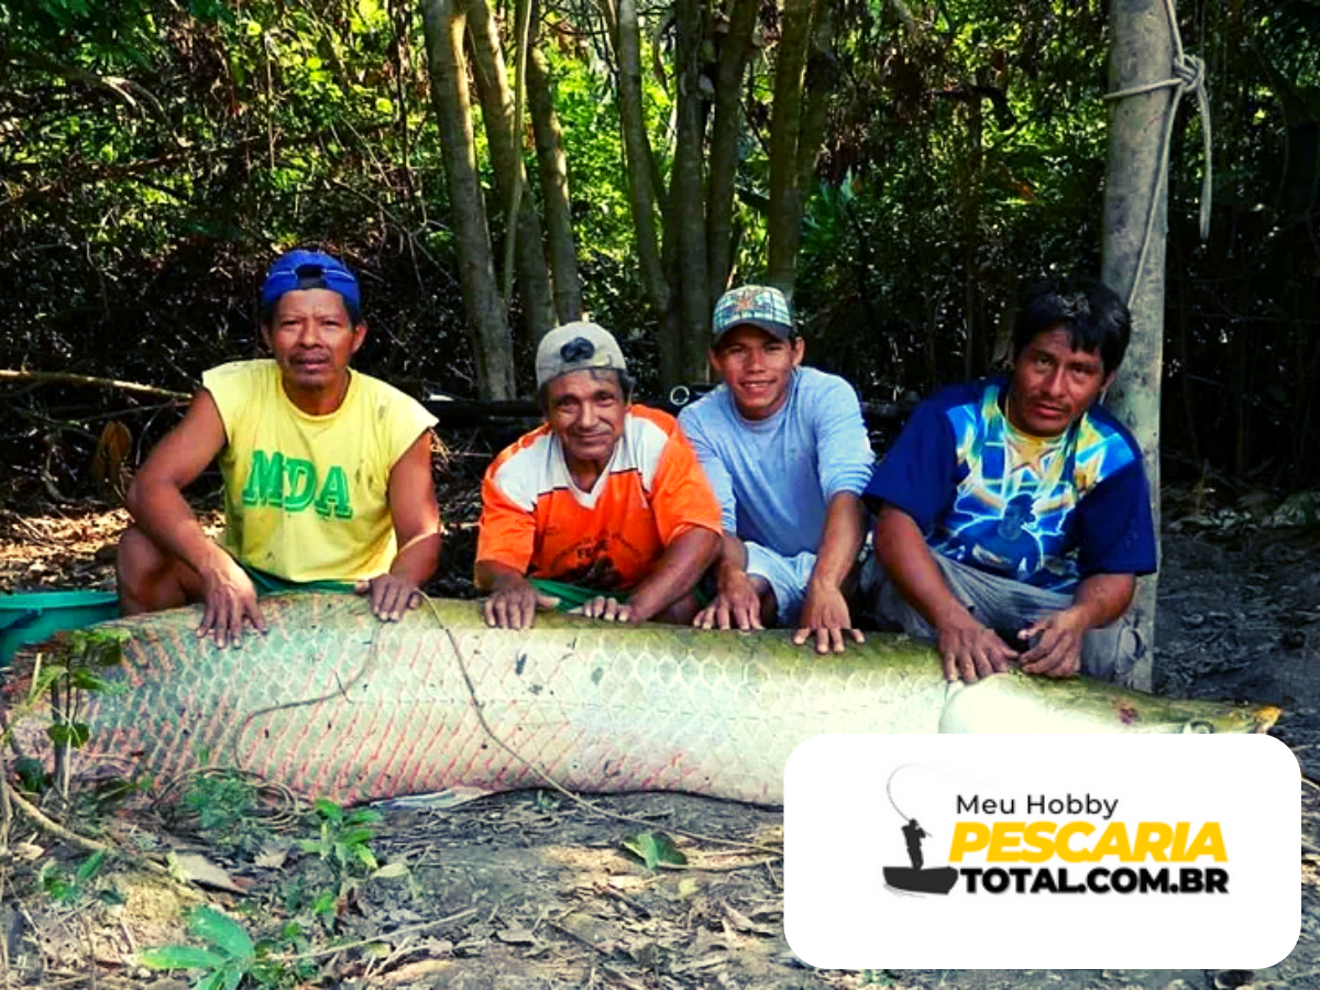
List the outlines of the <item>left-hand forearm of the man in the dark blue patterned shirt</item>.
{"label": "left-hand forearm of the man in the dark blue patterned shirt", "polygon": [[921,529],[907,512],[886,506],[875,523],[875,553],[899,593],[939,636],[944,676],[972,684],[1005,671],[1016,653],[977,622],[949,589]]}

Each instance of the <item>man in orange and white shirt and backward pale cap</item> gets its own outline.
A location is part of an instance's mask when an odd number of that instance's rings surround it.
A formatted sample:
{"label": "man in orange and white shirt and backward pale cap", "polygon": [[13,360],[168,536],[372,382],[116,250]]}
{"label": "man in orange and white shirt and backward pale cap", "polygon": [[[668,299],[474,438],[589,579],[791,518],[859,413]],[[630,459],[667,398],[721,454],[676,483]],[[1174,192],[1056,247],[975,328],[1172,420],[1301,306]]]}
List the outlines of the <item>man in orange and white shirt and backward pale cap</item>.
{"label": "man in orange and white shirt and backward pale cap", "polygon": [[595,323],[536,351],[545,424],[482,480],[477,586],[486,622],[529,628],[537,609],[688,624],[719,554],[719,503],[677,421],[632,405],[623,351]]}

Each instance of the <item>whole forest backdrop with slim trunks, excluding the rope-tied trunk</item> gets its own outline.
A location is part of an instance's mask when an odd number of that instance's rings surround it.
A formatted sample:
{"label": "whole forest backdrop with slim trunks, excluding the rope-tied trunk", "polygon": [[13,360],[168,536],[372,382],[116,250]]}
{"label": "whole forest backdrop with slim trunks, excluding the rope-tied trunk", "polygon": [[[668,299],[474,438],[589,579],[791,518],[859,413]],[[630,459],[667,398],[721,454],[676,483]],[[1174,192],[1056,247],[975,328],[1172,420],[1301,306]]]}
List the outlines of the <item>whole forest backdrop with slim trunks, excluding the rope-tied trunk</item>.
{"label": "whole forest backdrop with slim trunks, excluding the rope-tied trunk", "polygon": [[[1164,473],[1313,486],[1320,1],[1179,24],[1214,214],[1203,242],[1184,100]],[[710,304],[758,280],[809,363],[927,395],[994,367],[1024,282],[1100,272],[1107,48],[1101,0],[0,0],[0,368],[191,392],[255,354],[302,244],[363,281],[358,367],[418,396],[529,395],[581,313],[642,395],[700,381]],[[0,395],[0,503],[86,486],[106,422],[136,462],[178,409]]]}

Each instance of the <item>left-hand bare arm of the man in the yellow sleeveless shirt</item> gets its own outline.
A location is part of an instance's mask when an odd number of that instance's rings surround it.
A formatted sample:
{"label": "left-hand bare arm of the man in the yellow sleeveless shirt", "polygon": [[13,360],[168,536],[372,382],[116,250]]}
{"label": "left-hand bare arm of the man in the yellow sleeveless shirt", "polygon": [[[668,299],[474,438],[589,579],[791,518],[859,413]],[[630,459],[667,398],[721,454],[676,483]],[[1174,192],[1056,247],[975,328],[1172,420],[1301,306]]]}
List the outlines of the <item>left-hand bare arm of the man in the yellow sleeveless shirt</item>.
{"label": "left-hand bare arm of the man in the yellow sleeveless shirt", "polygon": [[202,389],[183,421],[152,450],[127,499],[133,520],[152,543],[201,577],[205,609],[198,634],[214,634],[219,645],[239,642],[244,618],[265,631],[252,581],[228,553],[207,539],[183,498],[183,488],[197,480],[226,442],[220,411],[211,393]]}

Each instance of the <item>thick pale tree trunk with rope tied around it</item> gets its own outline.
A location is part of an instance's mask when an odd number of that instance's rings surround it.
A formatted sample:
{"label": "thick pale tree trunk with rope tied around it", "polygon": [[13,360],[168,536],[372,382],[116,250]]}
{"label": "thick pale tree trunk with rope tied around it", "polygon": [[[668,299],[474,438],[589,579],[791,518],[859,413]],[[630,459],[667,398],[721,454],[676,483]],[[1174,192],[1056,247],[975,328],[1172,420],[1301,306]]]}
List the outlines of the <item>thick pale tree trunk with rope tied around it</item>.
{"label": "thick pale tree trunk with rope tied around it", "polygon": [[[1172,75],[1172,36],[1162,0],[1110,0],[1113,48],[1109,57],[1110,91],[1159,82]],[[1105,282],[1129,300],[1133,341],[1109,404],[1142,446],[1151,483],[1151,508],[1159,539],[1159,399],[1164,342],[1164,236],[1168,198],[1160,182],[1164,162],[1160,144],[1172,90],[1163,87],[1113,102],[1110,111],[1109,168],[1105,181]],[[1156,187],[1159,195],[1156,197]],[[1154,198],[1154,202],[1152,202]],[[1148,211],[1155,211],[1146,248]],[[1140,264],[1140,271],[1138,265]],[[1133,286],[1137,286],[1135,293]],[[1143,578],[1134,607],[1146,655],[1133,672],[1139,688],[1150,689],[1154,676],[1155,577]]]}

